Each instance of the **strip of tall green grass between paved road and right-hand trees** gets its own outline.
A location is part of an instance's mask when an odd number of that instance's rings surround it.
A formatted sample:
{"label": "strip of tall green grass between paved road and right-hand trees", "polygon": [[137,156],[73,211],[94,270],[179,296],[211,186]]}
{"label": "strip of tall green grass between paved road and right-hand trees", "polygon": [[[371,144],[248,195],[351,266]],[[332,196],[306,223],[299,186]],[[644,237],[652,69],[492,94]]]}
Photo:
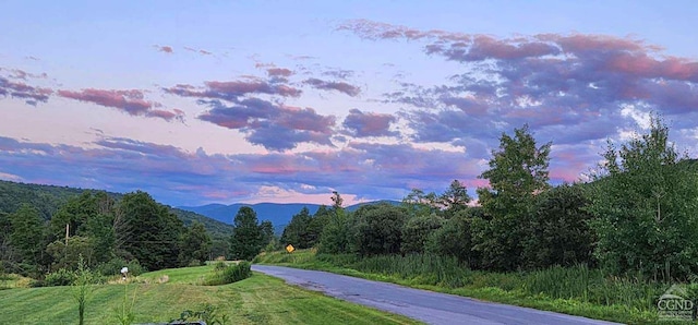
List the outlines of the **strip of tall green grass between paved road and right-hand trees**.
{"label": "strip of tall green grass between paved road and right-hand trees", "polygon": [[[670,286],[606,277],[586,266],[529,273],[470,270],[433,255],[374,256],[262,253],[258,264],[321,269],[492,302],[630,324],[657,323],[657,300]],[[661,324],[669,324],[661,322]]]}

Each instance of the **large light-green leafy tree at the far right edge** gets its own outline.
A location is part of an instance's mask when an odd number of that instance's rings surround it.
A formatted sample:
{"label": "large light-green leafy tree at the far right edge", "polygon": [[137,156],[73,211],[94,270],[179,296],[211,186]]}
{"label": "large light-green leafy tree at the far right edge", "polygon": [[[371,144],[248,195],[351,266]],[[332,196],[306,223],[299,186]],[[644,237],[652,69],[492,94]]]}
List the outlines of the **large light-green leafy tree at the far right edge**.
{"label": "large light-green leafy tree at the far right edge", "polygon": [[648,133],[609,143],[589,210],[595,256],[615,274],[663,280],[698,272],[698,174],[679,164],[669,128],[653,116]]}

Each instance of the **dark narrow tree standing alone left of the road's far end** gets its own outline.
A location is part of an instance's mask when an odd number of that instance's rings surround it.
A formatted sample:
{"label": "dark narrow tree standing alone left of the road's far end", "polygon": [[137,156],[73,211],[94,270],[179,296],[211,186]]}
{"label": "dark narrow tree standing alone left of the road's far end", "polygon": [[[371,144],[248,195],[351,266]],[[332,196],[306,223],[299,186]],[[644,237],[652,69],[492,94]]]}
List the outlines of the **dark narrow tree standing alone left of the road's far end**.
{"label": "dark narrow tree standing alone left of the road's far end", "polygon": [[232,224],[234,228],[230,237],[230,257],[251,261],[264,246],[257,214],[249,206],[240,207]]}

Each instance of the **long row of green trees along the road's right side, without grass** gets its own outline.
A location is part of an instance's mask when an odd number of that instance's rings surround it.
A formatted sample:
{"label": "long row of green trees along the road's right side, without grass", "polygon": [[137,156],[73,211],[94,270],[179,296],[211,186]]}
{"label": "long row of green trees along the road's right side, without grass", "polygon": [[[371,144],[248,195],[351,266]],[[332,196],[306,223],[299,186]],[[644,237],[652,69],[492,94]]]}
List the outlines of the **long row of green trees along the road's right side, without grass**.
{"label": "long row of green trees along the road's right side, without grass", "polygon": [[292,217],[282,244],[330,254],[437,254],[472,269],[512,272],[587,264],[613,275],[688,279],[698,272],[698,169],[653,116],[646,134],[609,142],[589,182],[551,185],[552,143],[528,127],[502,134],[474,204],[455,180],[443,193],[412,190],[399,206]]}

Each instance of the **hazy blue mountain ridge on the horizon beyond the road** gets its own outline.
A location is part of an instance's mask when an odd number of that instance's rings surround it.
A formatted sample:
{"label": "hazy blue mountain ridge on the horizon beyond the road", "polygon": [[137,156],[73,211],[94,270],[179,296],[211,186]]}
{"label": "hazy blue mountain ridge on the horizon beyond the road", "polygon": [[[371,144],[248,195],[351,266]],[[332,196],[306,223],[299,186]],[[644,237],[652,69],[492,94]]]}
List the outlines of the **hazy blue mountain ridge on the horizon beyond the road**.
{"label": "hazy blue mountain ridge on the horizon beyond the road", "polygon": [[[374,201],[374,202],[365,202],[359,203],[354,205],[350,205],[347,207],[347,210],[353,212],[363,205],[369,204],[378,204],[378,203],[388,203],[398,205],[400,202],[398,201]],[[209,218],[216,219],[221,222],[232,224],[232,219],[238,214],[238,210],[243,207],[249,206],[254,209],[257,214],[257,218],[262,220],[269,220],[274,225],[274,228],[279,231],[282,231],[284,227],[288,225],[293,215],[298,214],[303,207],[308,207],[310,214],[315,214],[320,208],[320,204],[310,204],[310,203],[257,203],[257,204],[244,204],[244,203],[236,203],[230,205],[224,204],[207,204],[201,206],[178,206],[178,208],[184,210],[195,212],[200,215],[207,216]]]}

